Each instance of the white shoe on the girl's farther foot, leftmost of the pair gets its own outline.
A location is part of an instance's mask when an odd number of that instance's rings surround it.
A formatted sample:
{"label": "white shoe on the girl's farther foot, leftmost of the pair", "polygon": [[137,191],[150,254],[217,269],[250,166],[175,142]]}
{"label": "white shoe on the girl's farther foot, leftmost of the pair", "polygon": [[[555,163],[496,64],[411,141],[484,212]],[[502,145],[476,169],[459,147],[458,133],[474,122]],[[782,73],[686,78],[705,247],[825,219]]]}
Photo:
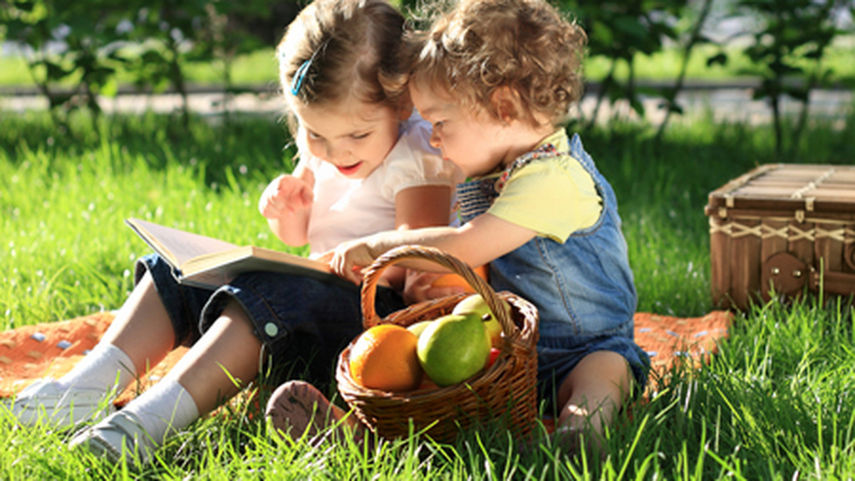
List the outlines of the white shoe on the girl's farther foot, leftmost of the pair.
{"label": "white shoe on the girl's farther foot, leftmost of the pair", "polygon": [[115,412],[111,394],[114,393],[69,389],[54,378],[44,378],[18,393],[11,409],[21,425],[32,426],[41,421],[56,427],[70,427]]}

